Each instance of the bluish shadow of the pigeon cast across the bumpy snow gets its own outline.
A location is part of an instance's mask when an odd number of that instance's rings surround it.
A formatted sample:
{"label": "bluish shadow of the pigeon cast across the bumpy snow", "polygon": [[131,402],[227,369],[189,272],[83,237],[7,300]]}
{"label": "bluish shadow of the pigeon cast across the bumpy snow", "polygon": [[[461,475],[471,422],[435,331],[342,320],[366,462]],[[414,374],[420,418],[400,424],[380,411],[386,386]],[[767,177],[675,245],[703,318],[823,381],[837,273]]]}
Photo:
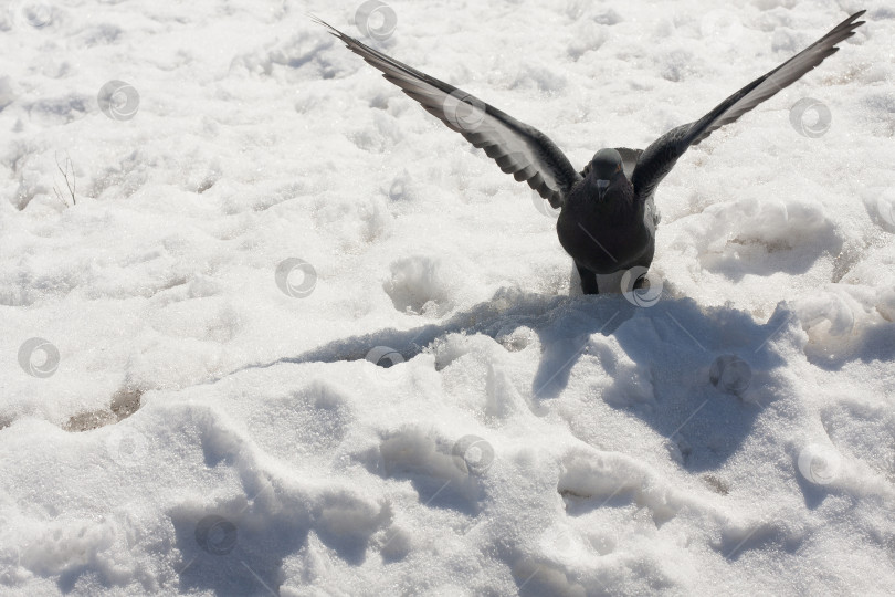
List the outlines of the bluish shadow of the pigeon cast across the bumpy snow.
{"label": "bluish shadow of the pigeon cast across the bumpy snow", "polygon": [[[761,407],[785,394],[772,387],[777,381],[771,380],[769,371],[785,362],[770,348],[769,341],[786,328],[789,318],[789,312],[778,310],[761,324],[747,312],[729,306],[704,310],[689,298],[675,298],[668,293],[645,307],[620,294],[547,296],[502,289],[491,301],[443,322],[340,338],[297,356],[244,369],[284,363],[359,360],[377,347],[388,348],[379,353],[398,353],[409,360],[439,338],[455,333],[487,335],[513,350],[513,332],[526,327],[537,334],[541,348],[528,396],[533,412],[549,411],[550,402],[564,392],[582,357],[598,358],[609,377],[599,380],[600,391],[612,397],[604,398],[608,404],[677,442],[678,460],[688,470],[710,470],[737,449]],[[608,343],[612,346],[607,347]],[[630,379],[617,370],[617,357],[609,354],[618,348],[649,371],[650,408],[626,398]],[[724,379],[716,379],[715,385],[710,381],[712,366],[722,355],[746,364],[751,377],[748,396],[739,391],[741,388],[726,388]]]}

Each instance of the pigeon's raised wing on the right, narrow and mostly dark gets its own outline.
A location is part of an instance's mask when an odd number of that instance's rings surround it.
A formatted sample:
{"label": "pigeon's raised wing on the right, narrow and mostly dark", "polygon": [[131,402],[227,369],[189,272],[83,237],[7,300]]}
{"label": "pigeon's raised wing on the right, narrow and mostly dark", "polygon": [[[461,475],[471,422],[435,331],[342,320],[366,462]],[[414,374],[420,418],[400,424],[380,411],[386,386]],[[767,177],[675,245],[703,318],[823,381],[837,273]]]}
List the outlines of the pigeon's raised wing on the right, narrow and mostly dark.
{"label": "pigeon's raised wing on the right, narrow and mostly dark", "polygon": [[839,48],[835,45],[854,35],[854,30],[864,23],[855,22],[864,12],[862,10],[852,14],[826,35],[773,71],[756,78],[698,121],[673,128],[653,142],[640,156],[631,180],[638,196],[652,195],[689,146],[698,144],[717,128],[733,123],[836,53]]}

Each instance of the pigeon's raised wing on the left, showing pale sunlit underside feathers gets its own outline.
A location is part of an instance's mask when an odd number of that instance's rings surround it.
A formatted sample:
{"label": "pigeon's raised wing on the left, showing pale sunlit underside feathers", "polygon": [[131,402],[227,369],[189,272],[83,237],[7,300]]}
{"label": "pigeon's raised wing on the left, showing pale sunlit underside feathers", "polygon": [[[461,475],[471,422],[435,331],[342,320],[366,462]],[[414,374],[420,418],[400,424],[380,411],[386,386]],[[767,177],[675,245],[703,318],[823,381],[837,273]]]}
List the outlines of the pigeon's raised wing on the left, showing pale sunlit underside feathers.
{"label": "pigeon's raised wing on the left, showing pale sunlit underside feathers", "polygon": [[387,81],[401,87],[427,112],[484,149],[503,171],[512,174],[516,180],[527,181],[554,208],[561,207],[565,193],[580,180],[568,158],[540,130],[365,45],[317,18],[314,20],[329,29],[351,52],[382,71]]}

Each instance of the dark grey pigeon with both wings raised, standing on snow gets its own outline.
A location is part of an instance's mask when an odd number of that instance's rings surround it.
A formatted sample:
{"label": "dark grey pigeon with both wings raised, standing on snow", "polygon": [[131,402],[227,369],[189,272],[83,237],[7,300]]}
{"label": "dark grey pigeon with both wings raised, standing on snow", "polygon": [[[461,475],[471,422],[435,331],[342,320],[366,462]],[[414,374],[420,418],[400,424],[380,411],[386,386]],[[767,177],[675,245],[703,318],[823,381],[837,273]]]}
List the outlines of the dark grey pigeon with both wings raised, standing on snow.
{"label": "dark grey pigeon with both wings raised, standing on snow", "polygon": [[[655,252],[655,189],[692,146],[798,81],[839,51],[864,21],[860,11],[806,50],[756,78],[702,118],[672,128],[645,149],[604,148],[577,171],[556,144],[474,95],[439,81],[312,17],[382,76],[420,103],[449,128],[463,135],[506,174],[526,181],[559,210],[557,235],[572,258],[585,294],[600,292],[598,276],[628,275],[630,287],[649,284],[645,275]],[[633,279],[633,281],[632,281]]]}

